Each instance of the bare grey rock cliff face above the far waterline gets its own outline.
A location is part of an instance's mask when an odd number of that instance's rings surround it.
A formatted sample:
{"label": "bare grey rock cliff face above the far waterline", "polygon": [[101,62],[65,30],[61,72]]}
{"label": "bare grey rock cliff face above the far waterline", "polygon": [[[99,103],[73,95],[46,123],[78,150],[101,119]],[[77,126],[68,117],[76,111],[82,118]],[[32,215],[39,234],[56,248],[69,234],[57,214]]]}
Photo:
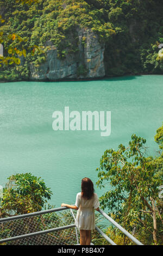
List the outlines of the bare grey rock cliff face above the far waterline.
{"label": "bare grey rock cliff face above the far waterline", "polygon": [[50,49],[46,62],[37,68],[30,65],[30,79],[56,81],[104,77],[104,44],[99,43],[98,36],[91,29],[79,29],[78,36],[78,52],[67,54],[64,59],[57,57],[57,48],[48,41],[46,46]]}

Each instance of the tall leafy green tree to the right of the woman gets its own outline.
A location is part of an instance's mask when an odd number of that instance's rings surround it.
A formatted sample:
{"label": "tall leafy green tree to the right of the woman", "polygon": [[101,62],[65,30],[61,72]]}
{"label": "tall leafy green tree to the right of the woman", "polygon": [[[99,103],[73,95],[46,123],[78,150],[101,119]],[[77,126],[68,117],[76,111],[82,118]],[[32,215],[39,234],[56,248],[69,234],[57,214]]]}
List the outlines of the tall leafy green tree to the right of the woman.
{"label": "tall leafy green tree to the right of the woman", "polygon": [[[155,140],[161,143],[162,128]],[[97,185],[111,190],[101,197],[102,208],[108,208],[128,231],[136,228],[136,235],[143,243],[160,244],[162,240],[162,199],[158,187],[163,184],[163,158],[146,157],[146,140],[131,136],[128,147],[120,144],[118,150],[104,152],[98,170]]]}

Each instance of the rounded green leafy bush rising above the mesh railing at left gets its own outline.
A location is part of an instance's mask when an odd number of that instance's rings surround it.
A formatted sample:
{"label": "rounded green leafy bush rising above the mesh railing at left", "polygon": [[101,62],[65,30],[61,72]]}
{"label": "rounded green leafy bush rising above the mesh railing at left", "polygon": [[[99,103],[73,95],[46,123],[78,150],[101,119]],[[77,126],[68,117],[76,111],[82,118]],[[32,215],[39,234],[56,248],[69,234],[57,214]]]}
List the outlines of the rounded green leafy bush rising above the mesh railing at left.
{"label": "rounded green leafy bush rising above the mesh railing at left", "polygon": [[31,173],[11,175],[8,179],[0,202],[1,215],[40,211],[47,202],[45,198],[51,199],[52,192],[45,182]]}

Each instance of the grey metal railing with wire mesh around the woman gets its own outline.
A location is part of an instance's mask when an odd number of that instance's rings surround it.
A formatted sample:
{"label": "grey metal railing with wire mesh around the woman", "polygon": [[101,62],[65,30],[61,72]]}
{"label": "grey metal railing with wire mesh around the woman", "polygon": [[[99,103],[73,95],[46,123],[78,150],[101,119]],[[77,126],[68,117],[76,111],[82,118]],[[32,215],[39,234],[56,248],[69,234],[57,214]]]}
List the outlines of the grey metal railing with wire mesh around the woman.
{"label": "grey metal railing with wire mesh around the woman", "polygon": [[[66,212],[61,214],[60,211]],[[10,245],[78,245],[79,231],[75,224],[73,211],[61,207],[51,210],[32,212],[30,214],[0,218],[0,244]],[[59,214],[58,214],[59,212]],[[100,214],[109,220],[116,228],[127,235],[136,245],[142,245],[133,235],[112,220],[101,209]],[[66,224],[66,225],[65,225]],[[96,225],[96,231],[111,245],[116,245]]]}

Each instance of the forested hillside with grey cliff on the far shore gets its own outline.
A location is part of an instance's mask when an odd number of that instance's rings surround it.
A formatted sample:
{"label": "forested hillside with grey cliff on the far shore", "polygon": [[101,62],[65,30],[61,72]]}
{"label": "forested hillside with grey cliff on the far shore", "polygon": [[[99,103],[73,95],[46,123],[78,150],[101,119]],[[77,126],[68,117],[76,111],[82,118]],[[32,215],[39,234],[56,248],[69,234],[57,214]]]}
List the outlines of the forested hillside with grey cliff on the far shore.
{"label": "forested hillside with grey cliff on the far shore", "polygon": [[163,74],[162,0],[1,0],[0,14],[0,32],[20,35],[12,44],[27,51],[1,67],[1,81]]}

